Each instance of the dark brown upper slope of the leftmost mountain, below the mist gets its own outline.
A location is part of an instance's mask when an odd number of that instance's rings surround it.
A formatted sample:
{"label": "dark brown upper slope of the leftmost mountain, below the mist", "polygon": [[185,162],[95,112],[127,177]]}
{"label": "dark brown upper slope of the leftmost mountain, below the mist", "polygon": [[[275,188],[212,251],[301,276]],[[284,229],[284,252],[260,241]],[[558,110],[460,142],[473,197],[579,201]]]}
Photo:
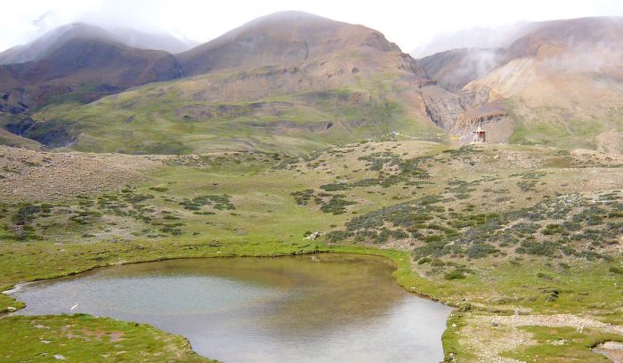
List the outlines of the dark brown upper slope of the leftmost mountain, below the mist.
{"label": "dark brown upper slope of the leftmost mountain, below the mist", "polygon": [[71,93],[82,101],[102,94],[179,77],[174,56],[162,51],[127,47],[99,36],[61,37],[36,60],[2,68],[0,91],[28,107]]}

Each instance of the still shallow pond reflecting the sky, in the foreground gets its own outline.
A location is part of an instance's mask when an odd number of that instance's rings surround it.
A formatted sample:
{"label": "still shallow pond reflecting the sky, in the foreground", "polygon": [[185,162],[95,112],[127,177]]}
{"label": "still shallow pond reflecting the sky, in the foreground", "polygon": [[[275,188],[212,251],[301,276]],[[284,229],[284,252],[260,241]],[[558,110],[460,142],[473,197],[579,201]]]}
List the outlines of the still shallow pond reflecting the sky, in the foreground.
{"label": "still shallow pond reflecting the sky, in the foreground", "polygon": [[[149,323],[224,362],[439,362],[450,308],[352,254],[187,259],[24,284],[21,314],[84,312]],[[71,307],[77,307],[71,311]]]}

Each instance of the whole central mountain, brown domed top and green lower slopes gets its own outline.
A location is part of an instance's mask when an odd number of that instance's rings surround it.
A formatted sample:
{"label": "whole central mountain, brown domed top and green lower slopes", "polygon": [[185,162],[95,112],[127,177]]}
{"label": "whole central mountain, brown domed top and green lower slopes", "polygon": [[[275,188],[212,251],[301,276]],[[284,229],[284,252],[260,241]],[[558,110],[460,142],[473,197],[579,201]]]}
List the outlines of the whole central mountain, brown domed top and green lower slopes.
{"label": "whole central mountain, brown domed top and green lower slopes", "polygon": [[181,79],[50,105],[37,126],[65,130],[74,149],[126,153],[301,153],[392,131],[443,137],[413,93],[429,82],[425,70],[360,25],[279,12],[178,60]]}

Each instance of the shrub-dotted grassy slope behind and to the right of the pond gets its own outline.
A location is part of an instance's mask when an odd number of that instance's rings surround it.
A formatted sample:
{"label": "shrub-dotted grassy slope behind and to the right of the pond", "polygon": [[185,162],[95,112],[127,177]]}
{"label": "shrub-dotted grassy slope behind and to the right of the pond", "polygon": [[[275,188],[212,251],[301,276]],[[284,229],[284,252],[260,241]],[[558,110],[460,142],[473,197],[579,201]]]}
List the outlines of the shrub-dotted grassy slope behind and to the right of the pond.
{"label": "shrub-dotted grassy slope behind and to the right of the pond", "polygon": [[[97,156],[72,160],[88,157]],[[396,263],[401,286],[457,306],[443,337],[448,360],[531,361],[550,339],[541,334],[569,342],[547,345],[550,361],[598,360],[595,343],[623,340],[622,159],[418,141],[300,157],[125,158],[156,166],[142,178],[111,174],[127,185],[116,189],[111,179],[103,190],[81,189],[69,168],[61,197],[17,190],[4,200],[0,286],[165,258],[379,254]],[[24,177],[46,167],[39,164],[25,165]],[[313,231],[322,236],[304,238]],[[0,303],[20,307],[7,296]],[[580,326],[576,335],[565,330]],[[40,342],[19,344],[14,359]]]}

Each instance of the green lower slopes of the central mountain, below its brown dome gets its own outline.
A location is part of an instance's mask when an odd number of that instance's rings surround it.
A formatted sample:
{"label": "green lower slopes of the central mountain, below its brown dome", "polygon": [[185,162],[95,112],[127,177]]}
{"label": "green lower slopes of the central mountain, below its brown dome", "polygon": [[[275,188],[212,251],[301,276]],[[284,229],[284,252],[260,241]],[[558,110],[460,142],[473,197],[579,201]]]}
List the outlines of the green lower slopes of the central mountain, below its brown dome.
{"label": "green lower slopes of the central mountain, below its brown dome", "polygon": [[[216,73],[145,85],[87,105],[51,105],[37,114],[46,121],[27,135],[62,129],[77,138],[71,149],[130,154],[219,150],[300,154],[387,137],[392,131],[442,140],[440,129],[408,114],[397,96],[400,90],[392,84],[395,77],[320,91],[288,93],[290,87],[285,86],[259,90],[254,98],[257,85],[249,85],[249,90],[245,88],[249,81],[240,81],[237,73]],[[282,77],[275,78],[271,82]],[[238,91],[246,96],[235,95]]]}

